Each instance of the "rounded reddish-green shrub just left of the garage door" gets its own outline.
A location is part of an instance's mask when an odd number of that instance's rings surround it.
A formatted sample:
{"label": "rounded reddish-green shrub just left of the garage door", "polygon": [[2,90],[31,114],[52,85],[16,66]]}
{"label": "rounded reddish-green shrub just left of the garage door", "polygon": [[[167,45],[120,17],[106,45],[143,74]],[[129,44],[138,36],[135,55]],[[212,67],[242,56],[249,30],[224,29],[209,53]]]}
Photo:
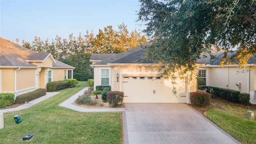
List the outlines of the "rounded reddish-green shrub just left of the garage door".
{"label": "rounded reddish-green shrub just left of the garage door", "polygon": [[118,107],[122,105],[122,102],[124,100],[124,92],[109,91],[107,93],[107,100],[112,107]]}

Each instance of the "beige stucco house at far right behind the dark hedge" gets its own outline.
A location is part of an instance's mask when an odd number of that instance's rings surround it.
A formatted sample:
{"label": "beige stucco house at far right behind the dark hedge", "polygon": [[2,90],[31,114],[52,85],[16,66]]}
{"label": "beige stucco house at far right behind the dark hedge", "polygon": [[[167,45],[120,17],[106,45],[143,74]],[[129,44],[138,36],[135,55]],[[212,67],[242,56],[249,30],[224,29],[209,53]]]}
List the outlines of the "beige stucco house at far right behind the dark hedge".
{"label": "beige stucco house at far right behind the dark hedge", "polygon": [[[207,55],[207,58],[197,60],[198,63],[202,64],[198,68],[198,73],[206,81],[206,85],[248,93],[250,94],[250,102],[256,104],[255,57],[251,57],[248,60],[248,66],[251,70],[238,68],[238,64],[225,65],[222,68],[219,64],[224,56],[224,51],[217,51],[213,48],[211,52],[216,56],[216,59],[211,61],[210,56]],[[228,57],[231,56],[232,53],[228,53]]]}

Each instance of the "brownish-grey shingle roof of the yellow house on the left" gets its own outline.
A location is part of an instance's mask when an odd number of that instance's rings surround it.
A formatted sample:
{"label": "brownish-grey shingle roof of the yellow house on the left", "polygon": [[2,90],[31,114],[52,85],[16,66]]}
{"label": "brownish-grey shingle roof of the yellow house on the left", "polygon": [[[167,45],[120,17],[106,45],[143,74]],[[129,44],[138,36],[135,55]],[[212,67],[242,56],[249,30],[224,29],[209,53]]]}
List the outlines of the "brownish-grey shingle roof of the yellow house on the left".
{"label": "brownish-grey shingle roof of the yellow house on the left", "polygon": [[[52,58],[50,53],[38,53],[34,52],[28,48],[20,46],[18,44],[14,44],[9,40],[5,40],[0,38],[0,66],[7,67],[35,67],[38,66],[30,63],[30,62],[44,62],[46,58],[52,59],[52,61],[56,61]],[[68,64],[64,64],[62,62],[53,63],[53,68],[74,68]]]}

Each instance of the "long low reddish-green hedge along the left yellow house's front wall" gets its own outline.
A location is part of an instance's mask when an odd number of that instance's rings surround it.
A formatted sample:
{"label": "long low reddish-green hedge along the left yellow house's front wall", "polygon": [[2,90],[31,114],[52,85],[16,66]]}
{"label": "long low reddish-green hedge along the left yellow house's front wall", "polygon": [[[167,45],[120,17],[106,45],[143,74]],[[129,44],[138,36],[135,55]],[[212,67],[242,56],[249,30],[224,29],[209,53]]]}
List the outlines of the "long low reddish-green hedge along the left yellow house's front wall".
{"label": "long low reddish-green hedge along the left yellow house's front wall", "polygon": [[25,102],[30,102],[31,100],[35,100],[37,98],[40,98],[41,96],[46,95],[46,89],[39,88],[37,90],[34,90],[32,92],[28,92],[26,94],[21,94],[19,96],[16,96],[14,104],[23,104]]}

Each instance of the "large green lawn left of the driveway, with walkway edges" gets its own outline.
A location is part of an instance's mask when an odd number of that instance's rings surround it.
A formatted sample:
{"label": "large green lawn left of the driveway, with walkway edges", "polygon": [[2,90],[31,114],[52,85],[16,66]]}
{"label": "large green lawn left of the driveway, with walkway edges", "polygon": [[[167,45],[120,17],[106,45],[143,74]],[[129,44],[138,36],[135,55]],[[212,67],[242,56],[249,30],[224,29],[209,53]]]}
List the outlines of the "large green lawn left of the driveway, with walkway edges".
{"label": "large green lawn left of the driveway, with walkway edges", "polygon": [[[33,144],[122,144],[121,112],[76,112],[58,106],[61,102],[88,86],[79,82],[75,88],[61,90],[30,108],[4,113],[4,128],[0,143]],[[16,124],[18,114],[22,123]],[[22,137],[33,133],[30,140]]]}

